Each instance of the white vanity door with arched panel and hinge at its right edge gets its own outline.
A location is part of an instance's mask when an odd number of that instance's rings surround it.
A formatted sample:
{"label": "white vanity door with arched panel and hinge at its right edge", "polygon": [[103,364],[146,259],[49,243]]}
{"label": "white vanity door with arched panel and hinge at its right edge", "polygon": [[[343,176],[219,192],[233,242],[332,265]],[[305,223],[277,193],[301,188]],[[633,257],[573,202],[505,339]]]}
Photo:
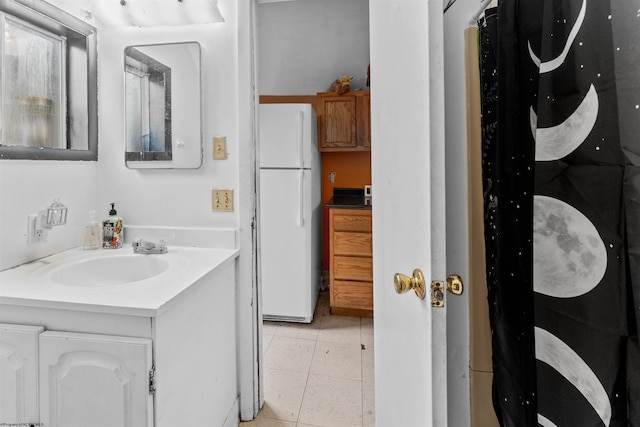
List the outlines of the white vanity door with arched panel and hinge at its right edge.
{"label": "white vanity door with arched panel and hinge at its right edge", "polygon": [[40,420],[49,427],[153,426],[151,340],[44,332]]}

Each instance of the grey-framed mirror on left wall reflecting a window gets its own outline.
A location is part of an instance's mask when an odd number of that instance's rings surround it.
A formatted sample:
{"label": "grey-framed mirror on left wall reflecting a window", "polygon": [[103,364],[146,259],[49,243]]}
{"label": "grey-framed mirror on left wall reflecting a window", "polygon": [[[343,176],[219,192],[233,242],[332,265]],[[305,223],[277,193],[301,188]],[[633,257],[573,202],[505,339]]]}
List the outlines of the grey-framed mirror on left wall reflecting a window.
{"label": "grey-framed mirror on left wall reflecting a window", "polygon": [[0,158],[97,160],[96,29],[42,0],[0,0]]}

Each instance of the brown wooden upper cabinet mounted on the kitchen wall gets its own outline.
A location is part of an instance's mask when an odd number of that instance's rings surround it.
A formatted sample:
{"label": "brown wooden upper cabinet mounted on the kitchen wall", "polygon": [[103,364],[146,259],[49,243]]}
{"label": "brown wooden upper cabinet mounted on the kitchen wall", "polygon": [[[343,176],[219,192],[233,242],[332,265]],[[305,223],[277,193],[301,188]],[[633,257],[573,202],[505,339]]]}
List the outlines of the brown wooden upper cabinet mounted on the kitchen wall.
{"label": "brown wooden upper cabinet mounted on the kitchen wall", "polygon": [[320,151],[371,151],[369,99],[369,91],[317,94]]}

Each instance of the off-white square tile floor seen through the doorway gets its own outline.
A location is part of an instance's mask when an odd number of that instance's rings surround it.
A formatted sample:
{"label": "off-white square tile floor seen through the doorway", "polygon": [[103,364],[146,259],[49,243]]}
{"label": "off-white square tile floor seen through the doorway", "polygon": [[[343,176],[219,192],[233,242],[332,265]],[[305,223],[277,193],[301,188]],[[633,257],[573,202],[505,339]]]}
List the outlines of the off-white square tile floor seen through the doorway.
{"label": "off-white square tile floor seen through the doorway", "polygon": [[264,322],[265,403],[240,427],[375,425],[373,319],[334,316],[321,292],[311,324]]}

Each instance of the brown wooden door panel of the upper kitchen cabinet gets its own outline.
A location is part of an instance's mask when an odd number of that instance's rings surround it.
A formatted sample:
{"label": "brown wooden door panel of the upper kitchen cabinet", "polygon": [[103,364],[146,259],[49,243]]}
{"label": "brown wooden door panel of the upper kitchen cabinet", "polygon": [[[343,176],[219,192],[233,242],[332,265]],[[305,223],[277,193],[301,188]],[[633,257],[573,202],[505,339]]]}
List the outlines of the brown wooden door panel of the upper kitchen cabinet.
{"label": "brown wooden door panel of the upper kitchen cabinet", "polygon": [[318,100],[320,149],[356,147],[356,99],[350,95],[321,96]]}

